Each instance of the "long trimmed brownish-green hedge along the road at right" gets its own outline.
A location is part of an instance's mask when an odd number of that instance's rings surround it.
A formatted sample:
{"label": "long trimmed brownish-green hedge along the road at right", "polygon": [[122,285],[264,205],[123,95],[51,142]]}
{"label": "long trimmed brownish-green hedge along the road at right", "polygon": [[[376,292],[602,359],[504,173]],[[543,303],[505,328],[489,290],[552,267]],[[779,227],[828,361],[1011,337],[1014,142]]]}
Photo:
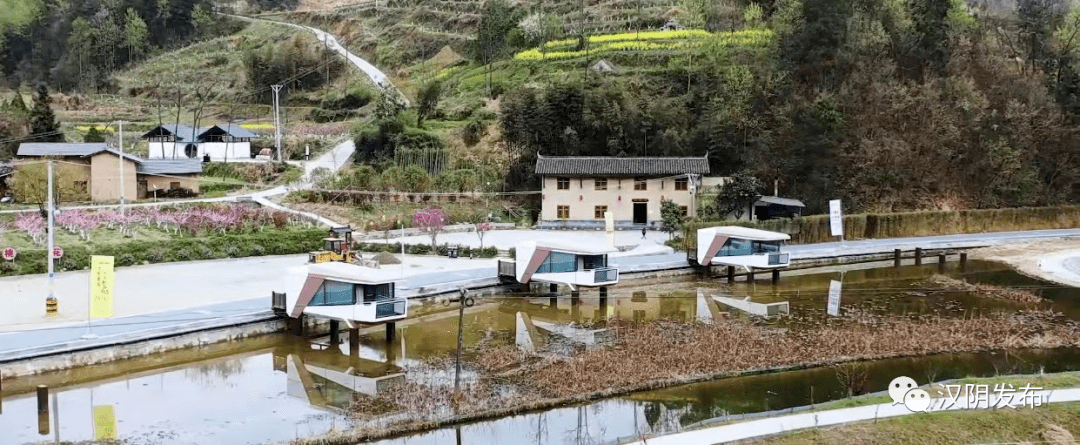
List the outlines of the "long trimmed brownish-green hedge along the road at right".
{"label": "long trimmed brownish-green hedge along the road at right", "polygon": [[[698,229],[716,226],[742,226],[783,232],[792,235],[792,244],[837,240],[829,231],[828,215],[764,221],[691,223],[686,226],[684,238],[693,243]],[[843,238],[867,240],[1076,227],[1080,227],[1080,205],[856,214],[843,217]]]}

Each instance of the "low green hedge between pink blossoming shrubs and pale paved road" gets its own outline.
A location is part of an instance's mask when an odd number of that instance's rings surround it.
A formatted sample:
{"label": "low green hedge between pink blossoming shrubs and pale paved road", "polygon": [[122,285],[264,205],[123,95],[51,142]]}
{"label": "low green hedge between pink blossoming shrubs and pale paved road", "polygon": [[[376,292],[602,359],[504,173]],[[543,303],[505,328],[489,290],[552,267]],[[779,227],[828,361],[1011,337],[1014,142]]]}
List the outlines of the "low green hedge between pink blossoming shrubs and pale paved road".
{"label": "low green hedge between pink blossoming shrubs and pale paved road", "polygon": [[[73,246],[64,250],[64,257],[54,262],[57,271],[82,270],[90,267],[91,255],[116,258],[116,265],[134,266],[145,262],[187,261],[197,259],[243,258],[262,255],[305,254],[322,248],[326,230],[322,228],[274,230],[249,233],[175,238],[166,241],[131,241],[99,247]],[[49,271],[45,250],[19,251],[15,262],[0,260],[0,275],[44,273]]]}

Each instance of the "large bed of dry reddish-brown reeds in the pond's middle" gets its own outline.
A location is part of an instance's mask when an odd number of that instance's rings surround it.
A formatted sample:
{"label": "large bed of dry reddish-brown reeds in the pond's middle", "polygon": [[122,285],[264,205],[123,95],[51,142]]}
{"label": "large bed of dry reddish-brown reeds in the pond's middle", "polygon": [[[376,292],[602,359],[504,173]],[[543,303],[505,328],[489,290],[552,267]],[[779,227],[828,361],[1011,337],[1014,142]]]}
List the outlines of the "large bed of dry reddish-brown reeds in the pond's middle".
{"label": "large bed of dry reddish-brown reeds in the pond's middle", "polygon": [[[348,437],[370,440],[723,376],[892,356],[1080,346],[1080,326],[1050,311],[967,319],[867,316],[806,328],[740,319],[713,325],[610,320],[609,327],[620,331],[618,342],[569,358],[527,354],[483,341],[471,359],[480,377],[463,391],[414,379],[376,399],[357,401],[352,413],[365,422]],[[444,365],[434,361],[422,366]]]}

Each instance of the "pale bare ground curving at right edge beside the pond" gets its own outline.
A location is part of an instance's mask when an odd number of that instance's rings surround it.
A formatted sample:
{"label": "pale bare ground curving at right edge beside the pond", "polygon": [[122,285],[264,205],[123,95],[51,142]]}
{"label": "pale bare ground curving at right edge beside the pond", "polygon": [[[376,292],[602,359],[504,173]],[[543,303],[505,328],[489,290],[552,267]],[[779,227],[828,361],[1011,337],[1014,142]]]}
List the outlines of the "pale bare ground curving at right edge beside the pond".
{"label": "pale bare ground curving at right edge beside the pond", "polygon": [[1080,287],[1080,240],[1004,244],[976,248],[971,255],[1004,262],[1028,277]]}

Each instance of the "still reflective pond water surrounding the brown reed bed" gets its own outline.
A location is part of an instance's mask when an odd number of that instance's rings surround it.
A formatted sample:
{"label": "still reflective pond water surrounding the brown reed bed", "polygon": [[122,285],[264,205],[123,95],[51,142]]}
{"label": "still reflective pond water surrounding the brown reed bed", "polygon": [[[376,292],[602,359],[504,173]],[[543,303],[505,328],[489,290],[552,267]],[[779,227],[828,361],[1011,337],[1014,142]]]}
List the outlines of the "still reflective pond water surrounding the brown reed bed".
{"label": "still reflective pond water surrounding the brown reed bed", "polygon": [[[842,273],[792,272],[777,285],[678,278],[620,284],[605,300],[595,292],[582,293],[579,299],[496,295],[467,309],[465,345],[491,337],[512,341],[518,311],[541,323],[602,323],[606,316],[692,320],[698,316],[699,292],[750,296],[755,302],[789,301],[793,314],[824,316],[829,281],[841,279],[841,310],[962,315],[1023,307],[962,292],[929,292],[922,282],[935,271],[936,266],[858,266]],[[961,277],[957,270],[948,274]],[[969,264],[962,277],[970,282],[1041,286],[1055,310],[1080,316],[1076,289],[1045,286],[985,262]],[[282,334],[6,380],[0,400],[0,445],[93,440],[103,428],[114,428],[132,444],[259,444],[348,429],[351,420],[340,408],[351,400],[376,394],[393,379],[416,379],[410,372],[418,365],[454,352],[454,306],[430,302],[414,313],[408,323],[399,324],[391,342],[382,337],[381,326],[367,332],[355,355],[350,355],[348,345],[326,345],[325,337],[303,340]],[[865,388],[860,390],[879,391],[897,375],[926,382],[1076,370],[1078,359],[1080,351],[1058,349],[877,361],[865,365]],[[451,378],[448,369],[435,374],[424,376],[424,381]],[[32,393],[37,385],[52,388],[50,412],[43,416]],[[802,406],[846,394],[833,369],[806,369],[636,393],[381,443],[611,443],[642,432],[677,431],[717,416]]]}

